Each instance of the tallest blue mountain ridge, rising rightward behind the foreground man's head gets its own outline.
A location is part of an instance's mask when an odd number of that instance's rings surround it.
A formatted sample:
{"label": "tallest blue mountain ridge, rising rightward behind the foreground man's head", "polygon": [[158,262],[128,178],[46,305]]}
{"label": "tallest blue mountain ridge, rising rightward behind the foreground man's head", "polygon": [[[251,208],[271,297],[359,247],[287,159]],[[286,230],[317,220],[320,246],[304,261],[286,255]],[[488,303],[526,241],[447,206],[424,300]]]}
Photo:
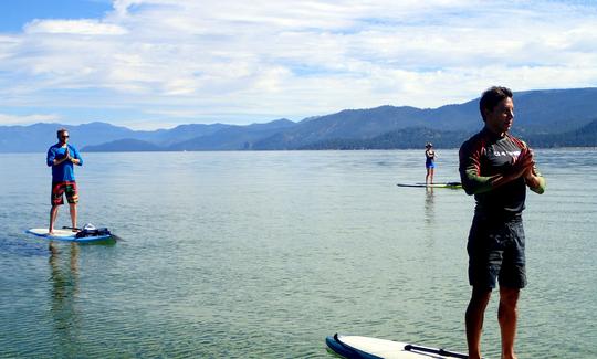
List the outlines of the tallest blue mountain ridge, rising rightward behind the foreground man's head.
{"label": "tallest blue mountain ridge, rising rightward behind the foreground man's head", "polygon": [[[514,94],[514,130],[521,135],[562,134],[588,124],[597,116],[597,88],[531,91]],[[343,110],[301,123],[290,130],[277,133],[258,141],[254,149],[332,149],[348,146],[377,148],[376,140],[395,142],[394,148],[411,148],[412,128],[460,133],[447,142],[465,138],[483,126],[479,115],[479,99],[461,105],[447,105],[434,109],[381,106],[371,109]],[[407,128],[409,130],[405,131]],[[420,133],[417,133],[420,134]],[[385,135],[385,137],[379,137]],[[388,138],[392,137],[392,140]],[[401,139],[399,139],[401,138]],[[426,140],[419,141],[420,147]],[[327,145],[326,145],[327,144]]]}

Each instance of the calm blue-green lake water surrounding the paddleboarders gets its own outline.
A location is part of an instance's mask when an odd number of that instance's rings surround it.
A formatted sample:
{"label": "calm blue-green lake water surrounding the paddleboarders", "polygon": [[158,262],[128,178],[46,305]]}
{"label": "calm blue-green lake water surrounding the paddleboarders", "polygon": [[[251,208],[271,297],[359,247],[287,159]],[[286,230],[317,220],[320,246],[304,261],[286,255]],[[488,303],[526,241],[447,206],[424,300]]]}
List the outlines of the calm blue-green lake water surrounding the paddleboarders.
{"label": "calm blue-green lake water surrounding the paddleboarders", "polygon": [[[520,358],[596,358],[597,151],[536,152]],[[23,234],[48,222],[44,154],[0,155],[0,357],[333,358],[336,331],[465,349],[473,199],[396,187],[422,150],[84,157],[80,223],[122,240],[50,251]]]}

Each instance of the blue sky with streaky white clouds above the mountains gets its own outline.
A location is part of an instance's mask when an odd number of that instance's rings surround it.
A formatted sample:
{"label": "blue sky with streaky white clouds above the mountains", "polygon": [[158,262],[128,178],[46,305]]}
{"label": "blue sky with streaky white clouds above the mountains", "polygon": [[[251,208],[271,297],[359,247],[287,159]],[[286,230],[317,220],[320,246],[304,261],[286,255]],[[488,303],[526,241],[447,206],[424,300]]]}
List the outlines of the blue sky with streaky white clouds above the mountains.
{"label": "blue sky with streaky white clouds above the mountains", "polygon": [[597,1],[0,1],[0,125],[294,122],[597,86]]}

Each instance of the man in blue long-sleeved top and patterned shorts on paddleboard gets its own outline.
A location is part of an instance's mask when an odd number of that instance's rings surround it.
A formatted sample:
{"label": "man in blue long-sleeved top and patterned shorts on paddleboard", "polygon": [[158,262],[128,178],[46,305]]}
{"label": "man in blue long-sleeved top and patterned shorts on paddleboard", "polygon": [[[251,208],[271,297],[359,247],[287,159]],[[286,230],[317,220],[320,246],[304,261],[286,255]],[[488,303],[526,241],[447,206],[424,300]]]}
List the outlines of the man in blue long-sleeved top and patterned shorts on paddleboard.
{"label": "man in blue long-sleeved top and patterned shorts on paddleboard", "polygon": [[52,209],[50,210],[50,229],[54,232],[59,207],[64,204],[63,196],[66,194],[71,210],[71,225],[76,228],[76,203],[78,191],[74,178],[74,165],[82,166],[83,158],[73,146],[69,145],[69,130],[57,130],[59,142],[48,149],[48,166],[52,167]]}

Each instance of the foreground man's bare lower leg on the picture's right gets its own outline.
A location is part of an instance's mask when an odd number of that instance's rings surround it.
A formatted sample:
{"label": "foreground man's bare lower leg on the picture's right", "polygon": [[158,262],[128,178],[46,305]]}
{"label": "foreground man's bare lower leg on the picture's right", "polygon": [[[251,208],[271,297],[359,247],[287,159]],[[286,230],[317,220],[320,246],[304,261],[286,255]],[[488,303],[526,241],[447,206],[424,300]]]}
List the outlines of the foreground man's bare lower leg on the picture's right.
{"label": "foreground man's bare lower leg on the picture's right", "polygon": [[500,287],[500,307],[498,309],[498,320],[502,334],[502,358],[515,359],[514,339],[516,337],[516,320],[519,303],[519,288]]}

